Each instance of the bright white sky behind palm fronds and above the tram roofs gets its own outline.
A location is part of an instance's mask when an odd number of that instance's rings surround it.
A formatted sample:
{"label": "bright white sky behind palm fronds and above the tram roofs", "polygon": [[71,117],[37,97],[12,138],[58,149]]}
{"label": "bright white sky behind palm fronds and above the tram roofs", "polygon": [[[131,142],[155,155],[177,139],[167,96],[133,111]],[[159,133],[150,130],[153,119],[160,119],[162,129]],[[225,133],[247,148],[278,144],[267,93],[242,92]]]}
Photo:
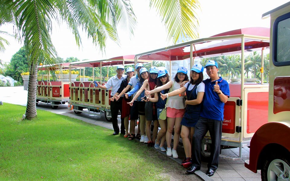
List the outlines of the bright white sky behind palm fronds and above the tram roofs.
{"label": "bright white sky behind palm fronds and above the tram roofs", "polygon": [[[137,17],[137,26],[134,36],[129,36],[126,30],[118,28],[120,46],[112,40],[107,41],[105,54],[92,44],[84,32],[82,32],[82,46],[76,45],[74,36],[67,29],[66,24],[60,27],[54,26],[52,41],[59,57],[64,60],[67,57],[77,57],[79,60],[102,60],[121,55],[139,54],[172,45],[167,40],[166,28],[161,23],[161,18],[155,9],[149,8],[149,1],[131,0],[134,13]],[[288,0],[199,0],[201,12],[200,38],[210,37],[226,31],[245,27],[270,27],[270,18],[261,19],[262,14],[270,11]],[[13,32],[11,25],[2,25],[0,31]],[[22,44],[15,41],[13,37],[6,38],[10,45],[6,51],[0,53],[3,62],[10,62]]]}

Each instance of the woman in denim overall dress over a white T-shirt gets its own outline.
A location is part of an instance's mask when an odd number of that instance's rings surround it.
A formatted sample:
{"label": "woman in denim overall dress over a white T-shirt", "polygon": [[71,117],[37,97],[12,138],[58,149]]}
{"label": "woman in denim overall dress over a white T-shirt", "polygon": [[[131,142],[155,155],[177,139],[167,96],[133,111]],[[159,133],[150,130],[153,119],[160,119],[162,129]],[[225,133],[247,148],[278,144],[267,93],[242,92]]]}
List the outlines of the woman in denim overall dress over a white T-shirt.
{"label": "woman in denim overall dress over a white T-shirt", "polygon": [[[170,96],[186,92],[186,109],[181,121],[181,137],[185,151],[185,159],[182,161],[182,166],[185,168],[191,165],[191,141],[195,124],[197,123],[201,112],[201,102],[205,94],[205,84],[202,82],[203,66],[201,64],[194,64],[190,70],[190,82],[187,82],[184,87],[169,92],[168,94],[161,94],[161,98],[166,99]],[[189,134],[191,138],[190,140],[188,138]]]}

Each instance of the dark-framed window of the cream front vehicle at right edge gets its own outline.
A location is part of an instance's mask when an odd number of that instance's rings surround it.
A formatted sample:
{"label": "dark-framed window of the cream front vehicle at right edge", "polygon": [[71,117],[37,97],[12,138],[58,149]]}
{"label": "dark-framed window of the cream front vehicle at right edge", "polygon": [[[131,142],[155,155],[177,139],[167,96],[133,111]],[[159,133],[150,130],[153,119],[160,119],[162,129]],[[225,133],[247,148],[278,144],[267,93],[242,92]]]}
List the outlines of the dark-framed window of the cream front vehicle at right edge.
{"label": "dark-framed window of the cream front vehicle at right edge", "polygon": [[278,17],[273,27],[273,64],[290,65],[290,13]]}

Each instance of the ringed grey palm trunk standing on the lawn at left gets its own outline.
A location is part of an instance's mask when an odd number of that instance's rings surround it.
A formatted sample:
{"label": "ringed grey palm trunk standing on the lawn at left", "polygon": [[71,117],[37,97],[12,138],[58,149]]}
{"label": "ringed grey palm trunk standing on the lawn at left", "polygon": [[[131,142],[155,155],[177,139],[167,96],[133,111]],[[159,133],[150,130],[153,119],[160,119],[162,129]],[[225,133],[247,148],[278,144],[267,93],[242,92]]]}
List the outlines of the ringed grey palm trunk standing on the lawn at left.
{"label": "ringed grey palm trunk standing on the lawn at left", "polygon": [[31,120],[36,118],[36,81],[37,81],[37,65],[31,63],[29,68],[29,80],[28,80],[28,95],[27,95],[27,106],[25,116],[26,119]]}

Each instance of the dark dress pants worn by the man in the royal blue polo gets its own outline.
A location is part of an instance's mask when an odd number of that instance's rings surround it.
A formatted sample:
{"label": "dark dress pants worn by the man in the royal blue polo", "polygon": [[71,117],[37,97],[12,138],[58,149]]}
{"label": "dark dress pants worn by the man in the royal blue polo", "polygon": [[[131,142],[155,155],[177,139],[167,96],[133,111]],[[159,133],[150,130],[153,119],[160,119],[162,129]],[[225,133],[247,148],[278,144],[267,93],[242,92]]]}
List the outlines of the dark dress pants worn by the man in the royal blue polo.
{"label": "dark dress pants worn by the man in the royal blue polo", "polygon": [[211,156],[208,162],[208,168],[217,170],[218,160],[221,148],[221,128],[223,121],[200,117],[195,125],[193,143],[192,143],[192,164],[198,168],[201,166],[201,141],[209,131],[211,135]]}

